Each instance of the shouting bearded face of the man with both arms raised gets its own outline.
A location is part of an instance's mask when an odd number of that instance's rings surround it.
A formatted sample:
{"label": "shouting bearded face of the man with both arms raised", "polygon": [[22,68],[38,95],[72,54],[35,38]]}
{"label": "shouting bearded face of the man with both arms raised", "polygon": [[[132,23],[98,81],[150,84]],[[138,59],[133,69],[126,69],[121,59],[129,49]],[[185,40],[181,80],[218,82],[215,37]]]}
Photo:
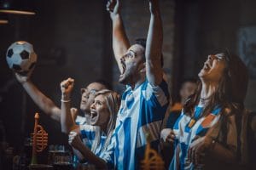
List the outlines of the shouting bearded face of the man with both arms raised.
{"label": "shouting bearded face of the man with both arms raised", "polygon": [[119,82],[122,84],[131,84],[136,81],[139,72],[143,69],[143,55],[145,48],[135,44],[128,49],[127,53],[120,59],[123,71],[119,76]]}

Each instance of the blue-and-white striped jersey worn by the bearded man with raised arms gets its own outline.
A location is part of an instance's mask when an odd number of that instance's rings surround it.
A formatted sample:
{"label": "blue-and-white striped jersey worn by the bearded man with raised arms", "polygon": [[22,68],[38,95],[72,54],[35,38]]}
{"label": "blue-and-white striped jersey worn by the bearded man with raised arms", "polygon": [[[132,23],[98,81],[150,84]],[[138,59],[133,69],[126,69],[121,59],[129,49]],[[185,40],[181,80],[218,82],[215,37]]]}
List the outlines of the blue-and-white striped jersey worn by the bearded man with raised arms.
{"label": "blue-and-white striped jersey worn by the bearded man with raised arms", "polygon": [[160,126],[169,104],[165,81],[153,87],[148,81],[126,88],[122,95],[116,127],[102,159],[115,169],[138,169],[144,157],[146,133],[155,150],[160,142]]}

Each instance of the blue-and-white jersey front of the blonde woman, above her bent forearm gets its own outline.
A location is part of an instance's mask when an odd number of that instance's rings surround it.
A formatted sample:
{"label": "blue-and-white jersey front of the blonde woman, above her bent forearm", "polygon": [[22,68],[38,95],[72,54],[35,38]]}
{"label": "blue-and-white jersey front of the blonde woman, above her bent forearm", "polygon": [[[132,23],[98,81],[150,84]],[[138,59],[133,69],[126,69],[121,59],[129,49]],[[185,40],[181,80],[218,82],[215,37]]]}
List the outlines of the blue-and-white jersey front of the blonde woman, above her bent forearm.
{"label": "blue-and-white jersey front of the blonde woman, above her bent forearm", "polygon": [[83,143],[96,155],[100,156],[107,136],[101,131],[101,127],[91,125],[79,125]]}

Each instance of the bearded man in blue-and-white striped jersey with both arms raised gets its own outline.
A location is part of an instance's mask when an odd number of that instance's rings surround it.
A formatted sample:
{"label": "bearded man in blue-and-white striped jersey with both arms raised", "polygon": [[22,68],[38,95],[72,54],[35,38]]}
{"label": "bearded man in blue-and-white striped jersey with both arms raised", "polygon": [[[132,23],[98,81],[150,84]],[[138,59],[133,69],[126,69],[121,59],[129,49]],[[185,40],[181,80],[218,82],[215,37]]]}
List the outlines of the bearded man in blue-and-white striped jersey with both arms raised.
{"label": "bearded man in blue-and-white striped jersey with both arms raised", "polygon": [[117,169],[138,169],[149,134],[151,147],[157,150],[160,126],[169,103],[163,80],[161,48],[162,24],[158,0],[149,1],[150,24],[147,42],[130,46],[119,14],[119,0],[107,5],[113,21],[113,53],[119,65],[119,82],[126,85],[113,133],[112,143],[102,159]]}

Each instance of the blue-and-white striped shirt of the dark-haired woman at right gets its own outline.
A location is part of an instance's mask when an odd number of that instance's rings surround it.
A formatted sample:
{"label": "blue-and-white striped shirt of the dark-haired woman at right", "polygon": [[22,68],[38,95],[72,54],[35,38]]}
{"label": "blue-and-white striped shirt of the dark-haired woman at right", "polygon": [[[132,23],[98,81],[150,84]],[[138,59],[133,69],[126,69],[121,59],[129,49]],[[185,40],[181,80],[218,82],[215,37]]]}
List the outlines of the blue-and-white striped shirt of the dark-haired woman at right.
{"label": "blue-and-white striped shirt of the dark-haired woman at right", "polygon": [[[221,109],[219,107],[215,107],[215,109],[208,116],[201,117],[202,111],[203,107],[199,105],[195,106],[195,116],[193,117],[184,114],[182,111],[181,116],[179,116],[177,122],[175,122],[173,127],[173,131],[176,135],[176,139],[174,141],[175,153],[169,167],[170,170],[193,170],[200,168],[195,167],[195,165],[188,160],[188,150],[190,144],[192,144],[195,139],[203,137],[206,134],[211,136],[213,139],[217,139],[221,127]],[[209,129],[211,129],[211,131],[209,131]],[[228,133],[229,139],[227,144],[236,147],[235,122],[233,122],[232,126],[230,126],[228,129]]]}

